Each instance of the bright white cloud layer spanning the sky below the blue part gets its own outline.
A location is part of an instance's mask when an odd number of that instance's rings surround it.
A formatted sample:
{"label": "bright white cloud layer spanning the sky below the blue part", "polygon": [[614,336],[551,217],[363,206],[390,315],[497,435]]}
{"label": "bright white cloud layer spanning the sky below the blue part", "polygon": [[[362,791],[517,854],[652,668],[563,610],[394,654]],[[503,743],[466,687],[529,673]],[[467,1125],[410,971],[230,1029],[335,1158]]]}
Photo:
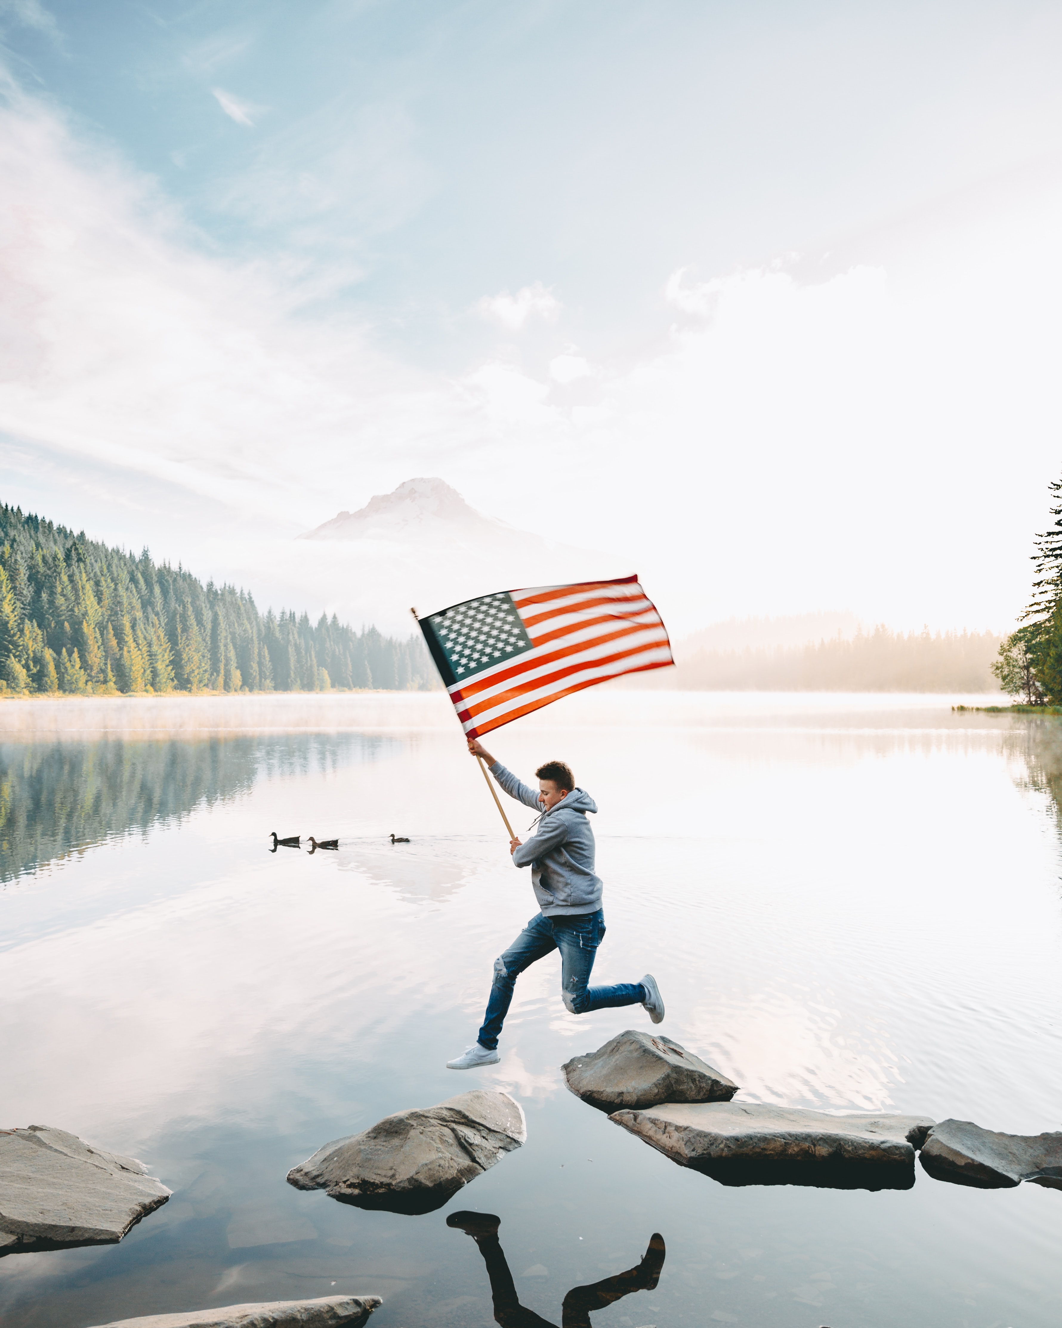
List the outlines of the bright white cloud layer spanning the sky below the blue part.
{"label": "bright white cloud layer spanning the sky below the blue part", "polygon": [[[153,185],[29,102],[0,117],[0,189],[9,501],[32,491],[52,514],[38,495],[76,475],[77,527],[113,522],[275,600],[280,584],[289,602],[361,596],[366,620],[390,611],[373,586],[295,560],[288,540],[417,474],[615,548],[676,635],[831,604],[1004,627],[1024,602],[1059,465],[1053,179],[873,263],[676,274],[678,325],[624,365],[562,343],[548,369],[453,377],[311,311],[299,272],[211,256]],[[559,308],[542,283],[495,300],[514,329]],[[28,489],[27,454],[58,478]],[[85,507],[90,486],[135,503]]]}

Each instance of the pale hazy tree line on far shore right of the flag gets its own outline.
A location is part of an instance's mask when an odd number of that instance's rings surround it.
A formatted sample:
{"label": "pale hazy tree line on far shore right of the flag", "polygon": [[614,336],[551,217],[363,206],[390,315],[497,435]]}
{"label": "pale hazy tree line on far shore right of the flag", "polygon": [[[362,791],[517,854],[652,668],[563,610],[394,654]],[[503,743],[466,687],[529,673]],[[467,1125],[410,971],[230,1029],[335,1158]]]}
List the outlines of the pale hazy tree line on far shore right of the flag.
{"label": "pale hazy tree line on far shore right of the flag", "polygon": [[657,685],[692,692],[992,692],[993,632],[875,627],[804,645],[698,651]]}

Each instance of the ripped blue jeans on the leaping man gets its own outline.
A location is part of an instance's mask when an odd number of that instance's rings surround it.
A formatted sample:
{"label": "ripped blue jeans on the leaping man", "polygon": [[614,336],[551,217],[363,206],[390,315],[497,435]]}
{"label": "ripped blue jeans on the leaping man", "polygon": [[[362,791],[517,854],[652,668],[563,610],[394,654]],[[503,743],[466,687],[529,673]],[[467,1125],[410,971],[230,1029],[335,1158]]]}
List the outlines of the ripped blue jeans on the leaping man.
{"label": "ripped blue jeans on the leaping man", "polygon": [[516,979],[536,959],[560,951],[560,996],[572,1015],[588,1015],[592,1009],[615,1005],[640,1005],[645,1000],[641,983],[617,983],[615,987],[587,987],[593,956],[604,940],[605,915],[601,908],[593,914],[532,918],[508,950],[494,960],[494,984],[490,989],[487,1013],[479,1029],[479,1045],[490,1050],[498,1045]]}

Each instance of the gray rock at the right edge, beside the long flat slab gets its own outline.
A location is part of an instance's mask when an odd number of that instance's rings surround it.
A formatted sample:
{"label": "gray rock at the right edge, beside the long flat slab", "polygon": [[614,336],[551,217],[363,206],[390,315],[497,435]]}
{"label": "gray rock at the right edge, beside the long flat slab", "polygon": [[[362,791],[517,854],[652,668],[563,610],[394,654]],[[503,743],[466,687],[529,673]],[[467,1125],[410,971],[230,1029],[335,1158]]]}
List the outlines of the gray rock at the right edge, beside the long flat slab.
{"label": "gray rock at the right edge, beside the long flat slab", "polygon": [[929,1131],[921,1165],[936,1181],[978,1190],[1022,1181],[1062,1190],[1062,1133],[997,1134],[973,1121],[941,1121]]}

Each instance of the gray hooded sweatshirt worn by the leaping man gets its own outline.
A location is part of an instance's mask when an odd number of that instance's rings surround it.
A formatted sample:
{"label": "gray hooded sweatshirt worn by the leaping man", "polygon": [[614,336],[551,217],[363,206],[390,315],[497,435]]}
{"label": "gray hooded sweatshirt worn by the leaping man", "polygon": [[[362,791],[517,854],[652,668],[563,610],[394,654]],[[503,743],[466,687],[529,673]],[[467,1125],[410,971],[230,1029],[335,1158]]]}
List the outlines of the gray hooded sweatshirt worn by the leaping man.
{"label": "gray hooded sweatshirt worn by the leaping man", "polygon": [[[490,773],[510,798],[542,811],[538,791],[520,784],[500,761],[494,762]],[[601,907],[601,878],[593,871],[593,830],[587,821],[587,813],[596,810],[597,803],[588,793],[572,789],[543,813],[535,833],[512,854],[515,866],[531,867],[531,884],[546,918],[597,912]]]}

